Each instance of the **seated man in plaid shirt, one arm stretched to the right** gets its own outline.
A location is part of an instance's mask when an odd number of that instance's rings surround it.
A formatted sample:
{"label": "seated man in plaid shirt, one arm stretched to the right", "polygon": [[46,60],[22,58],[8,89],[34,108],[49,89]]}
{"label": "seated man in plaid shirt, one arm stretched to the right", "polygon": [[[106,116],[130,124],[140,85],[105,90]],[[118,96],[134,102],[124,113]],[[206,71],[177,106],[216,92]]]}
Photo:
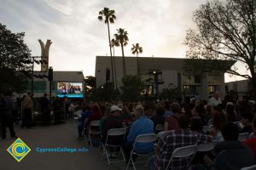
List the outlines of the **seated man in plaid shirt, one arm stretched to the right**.
{"label": "seated man in plaid shirt, one arm stretched to the right", "polygon": [[[189,130],[189,118],[179,116],[177,130],[164,133],[157,144],[156,154],[152,157],[152,169],[166,169],[171,159],[172,152],[183,146],[207,143],[212,141],[212,137]],[[174,159],[168,169],[187,170],[191,162],[191,157]]]}

